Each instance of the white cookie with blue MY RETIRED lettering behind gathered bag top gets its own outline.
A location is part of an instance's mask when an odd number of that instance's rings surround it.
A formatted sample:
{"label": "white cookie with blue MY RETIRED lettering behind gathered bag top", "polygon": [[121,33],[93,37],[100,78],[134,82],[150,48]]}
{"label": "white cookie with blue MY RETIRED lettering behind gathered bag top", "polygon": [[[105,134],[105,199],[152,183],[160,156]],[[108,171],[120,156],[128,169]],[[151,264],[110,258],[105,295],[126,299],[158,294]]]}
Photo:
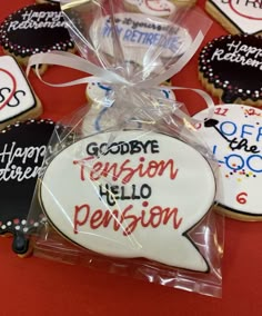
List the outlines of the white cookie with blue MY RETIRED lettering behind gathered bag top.
{"label": "white cookie with blue MY RETIRED lettering behind gathered bag top", "polygon": [[[192,43],[192,38],[184,28],[158,17],[152,18],[152,16],[141,13],[115,13],[114,18],[125,61],[149,66],[147,61],[149,49],[150,56],[152,51],[160,52],[161,49],[161,58],[172,58],[182,55]],[[109,16],[94,20],[90,27],[90,37],[95,49],[114,56]]]}

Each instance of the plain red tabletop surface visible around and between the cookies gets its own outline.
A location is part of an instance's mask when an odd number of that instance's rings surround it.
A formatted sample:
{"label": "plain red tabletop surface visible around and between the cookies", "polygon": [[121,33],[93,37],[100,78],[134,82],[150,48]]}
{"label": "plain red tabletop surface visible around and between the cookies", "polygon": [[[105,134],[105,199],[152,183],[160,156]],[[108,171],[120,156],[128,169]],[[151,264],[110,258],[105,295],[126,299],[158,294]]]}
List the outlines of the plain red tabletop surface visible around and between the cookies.
{"label": "plain red tabletop surface visible around and between the cookies", "polygon": [[[0,20],[32,0],[1,1]],[[198,3],[203,8],[204,0]],[[226,33],[215,21],[202,46]],[[0,51],[2,55],[2,52]],[[198,81],[198,53],[173,78],[173,85],[202,88]],[[46,80],[61,81],[79,76],[52,67]],[[44,118],[54,120],[84,105],[84,86],[51,88],[31,73]],[[177,92],[194,113],[202,101],[193,92]],[[216,101],[216,100],[214,100]],[[120,277],[87,267],[31,257],[11,251],[11,238],[0,240],[0,315],[262,315],[262,223],[225,219],[223,297],[212,298]]]}

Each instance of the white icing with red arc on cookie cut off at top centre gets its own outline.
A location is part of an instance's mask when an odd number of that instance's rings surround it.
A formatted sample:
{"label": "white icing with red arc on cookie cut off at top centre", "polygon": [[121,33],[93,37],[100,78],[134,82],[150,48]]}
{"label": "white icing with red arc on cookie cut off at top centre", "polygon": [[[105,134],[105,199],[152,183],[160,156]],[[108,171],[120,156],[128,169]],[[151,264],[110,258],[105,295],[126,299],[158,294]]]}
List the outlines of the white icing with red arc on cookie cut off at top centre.
{"label": "white icing with red arc on cookie cut off at top centre", "polygon": [[138,7],[145,14],[167,17],[175,11],[175,7],[168,0],[124,0],[127,3]]}

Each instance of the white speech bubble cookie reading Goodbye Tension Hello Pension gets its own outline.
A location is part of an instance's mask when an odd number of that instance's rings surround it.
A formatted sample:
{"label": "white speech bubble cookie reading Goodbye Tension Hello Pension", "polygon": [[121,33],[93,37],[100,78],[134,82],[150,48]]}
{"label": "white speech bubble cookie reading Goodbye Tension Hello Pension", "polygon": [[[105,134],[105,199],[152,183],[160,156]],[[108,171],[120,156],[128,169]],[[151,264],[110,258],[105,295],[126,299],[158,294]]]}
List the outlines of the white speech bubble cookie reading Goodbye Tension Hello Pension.
{"label": "white speech bubble cookie reading Goodbye Tension Hello Pension", "polygon": [[73,243],[108,256],[144,257],[208,271],[188,236],[213,204],[209,162],[187,144],[149,131],[81,139],[47,167],[43,211]]}

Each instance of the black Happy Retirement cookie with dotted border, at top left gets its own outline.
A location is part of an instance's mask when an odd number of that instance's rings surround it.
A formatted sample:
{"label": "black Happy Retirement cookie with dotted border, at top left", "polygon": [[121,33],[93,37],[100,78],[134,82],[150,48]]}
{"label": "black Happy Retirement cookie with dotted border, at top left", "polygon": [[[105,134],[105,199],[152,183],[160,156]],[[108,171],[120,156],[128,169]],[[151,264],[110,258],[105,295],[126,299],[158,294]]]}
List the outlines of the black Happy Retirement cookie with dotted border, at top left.
{"label": "black Happy Retirement cookie with dotted border, at top left", "polygon": [[[51,50],[73,51],[59,4],[32,4],[10,14],[0,26],[0,45],[27,66],[31,55]],[[42,66],[43,72],[47,66]]]}

